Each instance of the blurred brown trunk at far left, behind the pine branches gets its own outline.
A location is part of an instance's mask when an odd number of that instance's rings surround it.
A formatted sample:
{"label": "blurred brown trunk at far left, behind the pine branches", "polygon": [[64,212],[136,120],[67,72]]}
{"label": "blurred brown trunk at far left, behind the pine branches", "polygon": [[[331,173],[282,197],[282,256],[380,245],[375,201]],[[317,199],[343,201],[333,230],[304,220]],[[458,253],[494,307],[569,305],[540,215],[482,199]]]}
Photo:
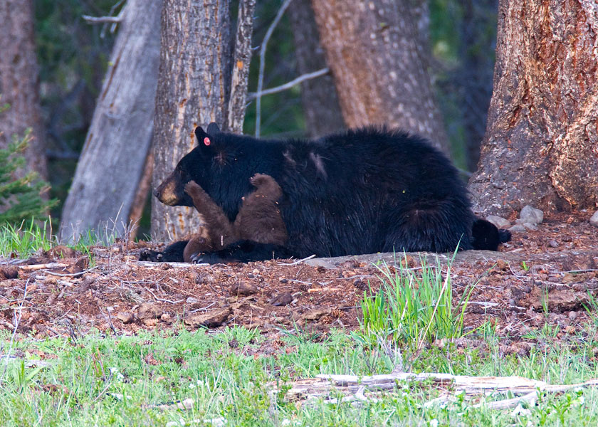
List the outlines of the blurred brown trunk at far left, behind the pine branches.
{"label": "blurred brown trunk at far left, behind the pine branches", "polygon": [[33,1],[0,1],[0,147],[28,127],[33,139],[25,153],[27,167],[46,178],[46,144],[38,94],[38,66],[33,36]]}

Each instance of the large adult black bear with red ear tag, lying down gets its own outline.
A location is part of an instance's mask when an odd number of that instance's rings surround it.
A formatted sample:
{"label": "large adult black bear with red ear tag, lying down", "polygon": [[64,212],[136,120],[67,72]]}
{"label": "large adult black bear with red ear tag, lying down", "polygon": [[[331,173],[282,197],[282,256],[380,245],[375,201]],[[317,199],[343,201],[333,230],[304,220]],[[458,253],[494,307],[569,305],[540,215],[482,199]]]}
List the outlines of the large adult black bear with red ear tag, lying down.
{"label": "large adult black bear with red ear tag, lying down", "polygon": [[[154,191],[162,203],[193,206],[184,191],[193,180],[233,221],[254,174],[272,176],[283,193],[278,206],[288,239],[282,247],[238,241],[212,260],[448,252],[476,248],[478,241],[495,250],[505,237],[472,236],[476,218],[455,167],[425,139],[400,130],[364,127],[280,141],[221,132],[211,123],[195,135],[198,146]],[[162,260],[183,260],[186,245],[173,243]]]}

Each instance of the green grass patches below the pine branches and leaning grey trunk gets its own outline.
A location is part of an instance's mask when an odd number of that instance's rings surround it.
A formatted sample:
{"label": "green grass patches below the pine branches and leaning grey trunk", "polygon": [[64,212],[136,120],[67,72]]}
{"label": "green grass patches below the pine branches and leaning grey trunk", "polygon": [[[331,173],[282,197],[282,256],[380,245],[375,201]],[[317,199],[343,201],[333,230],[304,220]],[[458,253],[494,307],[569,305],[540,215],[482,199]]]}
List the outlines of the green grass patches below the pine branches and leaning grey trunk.
{"label": "green grass patches below the pine branches and leaning grey trunk", "polygon": [[[48,251],[58,245],[58,238],[53,234],[51,221],[21,221],[20,224],[0,224],[0,255],[4,257],[16,256],[28,258],[38,251]],[[100,236],[98,233],[88,231],[80,236],[78,241],[67,246],[83,253],[89,253],[90,246],[98,243],[112,243],[114,237],[109,233]]]}

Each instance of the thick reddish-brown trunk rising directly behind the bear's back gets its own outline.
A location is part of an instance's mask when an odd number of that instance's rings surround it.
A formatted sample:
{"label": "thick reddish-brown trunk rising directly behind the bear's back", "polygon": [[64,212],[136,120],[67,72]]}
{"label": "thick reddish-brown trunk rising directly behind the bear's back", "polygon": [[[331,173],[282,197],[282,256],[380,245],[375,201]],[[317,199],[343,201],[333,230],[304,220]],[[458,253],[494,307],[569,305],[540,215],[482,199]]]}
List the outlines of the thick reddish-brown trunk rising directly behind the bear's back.
{"label": "thick reddish-brown trunk rising directly behind the bear's back", "polygon": [[402,127],[448,151],[409,1],[312,4],[347,125]]}

